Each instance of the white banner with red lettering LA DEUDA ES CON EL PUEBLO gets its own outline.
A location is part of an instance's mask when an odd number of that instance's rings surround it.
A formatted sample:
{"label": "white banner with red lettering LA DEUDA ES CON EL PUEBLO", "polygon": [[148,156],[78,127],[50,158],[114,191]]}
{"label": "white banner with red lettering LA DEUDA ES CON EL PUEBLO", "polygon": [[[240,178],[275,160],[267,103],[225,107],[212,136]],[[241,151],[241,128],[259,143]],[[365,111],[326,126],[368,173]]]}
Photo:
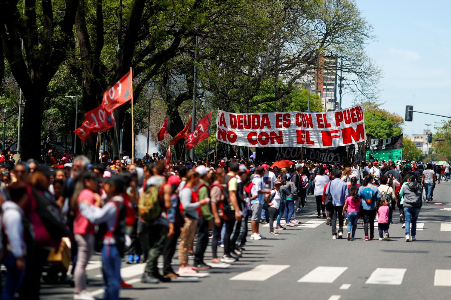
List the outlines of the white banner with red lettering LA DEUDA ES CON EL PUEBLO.
{"label": "white banner with red lettering LA DEUDA ES CON EL PUEBLO", "polygon": [[333,112],[218,111],[216,139],[245,147],[329,148],[365,140],[362,105]]}

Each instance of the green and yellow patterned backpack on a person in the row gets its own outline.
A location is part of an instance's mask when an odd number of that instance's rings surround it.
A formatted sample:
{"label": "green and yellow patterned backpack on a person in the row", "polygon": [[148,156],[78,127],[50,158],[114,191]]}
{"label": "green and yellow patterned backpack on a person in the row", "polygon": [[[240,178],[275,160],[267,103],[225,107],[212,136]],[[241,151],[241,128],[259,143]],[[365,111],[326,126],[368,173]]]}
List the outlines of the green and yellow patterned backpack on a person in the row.
{"label": "green and yellow patterned backpack on a person in the row", "polygon": [[139,218],[146,222],[153,222],[161,215],[164,184],[163,181],[160,184],[152,185],[141,195],[138,202]]}

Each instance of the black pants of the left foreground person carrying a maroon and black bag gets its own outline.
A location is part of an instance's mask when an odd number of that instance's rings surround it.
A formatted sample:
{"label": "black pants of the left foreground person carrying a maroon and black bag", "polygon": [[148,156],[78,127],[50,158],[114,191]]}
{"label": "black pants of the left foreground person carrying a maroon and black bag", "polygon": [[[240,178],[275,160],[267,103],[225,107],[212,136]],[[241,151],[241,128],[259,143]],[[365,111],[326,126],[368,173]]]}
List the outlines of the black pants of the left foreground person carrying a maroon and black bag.
{"label": "black pants of the left foreground person carrying a maroon and black bag", "polygon": [[41,289],[41,273],[49,256],[49,251],[35,246],[27,255],[27,269],[19,288],[21,300],[38,300]]}

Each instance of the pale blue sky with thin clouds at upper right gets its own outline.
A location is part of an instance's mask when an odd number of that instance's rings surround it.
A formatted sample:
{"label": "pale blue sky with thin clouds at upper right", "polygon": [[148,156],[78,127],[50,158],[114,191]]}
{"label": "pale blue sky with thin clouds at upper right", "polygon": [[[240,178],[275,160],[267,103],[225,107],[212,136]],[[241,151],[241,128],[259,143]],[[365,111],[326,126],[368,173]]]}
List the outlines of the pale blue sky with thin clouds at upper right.
{"label": "pale blue sky with thin clouds at upper right", "polygon": [[[451,1],[357,0],[357,5],[378,36],[367,51],[384,73],[382,108],[404,117],[405,105],[413,105],[417,111],[451,116]],[[342,107],[350,106],[348,95]],[[422,133],[425,123],[441,120],[449,119],[414,112],[404,134]]]}

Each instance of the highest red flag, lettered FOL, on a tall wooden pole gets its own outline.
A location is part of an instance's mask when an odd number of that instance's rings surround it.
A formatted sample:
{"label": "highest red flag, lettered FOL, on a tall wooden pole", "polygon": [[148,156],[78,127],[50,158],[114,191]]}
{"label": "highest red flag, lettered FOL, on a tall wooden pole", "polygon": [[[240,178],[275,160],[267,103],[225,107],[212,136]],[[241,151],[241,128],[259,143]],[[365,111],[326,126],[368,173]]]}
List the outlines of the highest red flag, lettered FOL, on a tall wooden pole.
{"label": "highest red flag, lettered FOL, on a tall wooden pole", "polygon": [[132,74],[131,71],[129,71],[124,77],[103,93],[101,105],[107,112],[112,112],[116,107],[121,106],[132,98],[132,80]]}

